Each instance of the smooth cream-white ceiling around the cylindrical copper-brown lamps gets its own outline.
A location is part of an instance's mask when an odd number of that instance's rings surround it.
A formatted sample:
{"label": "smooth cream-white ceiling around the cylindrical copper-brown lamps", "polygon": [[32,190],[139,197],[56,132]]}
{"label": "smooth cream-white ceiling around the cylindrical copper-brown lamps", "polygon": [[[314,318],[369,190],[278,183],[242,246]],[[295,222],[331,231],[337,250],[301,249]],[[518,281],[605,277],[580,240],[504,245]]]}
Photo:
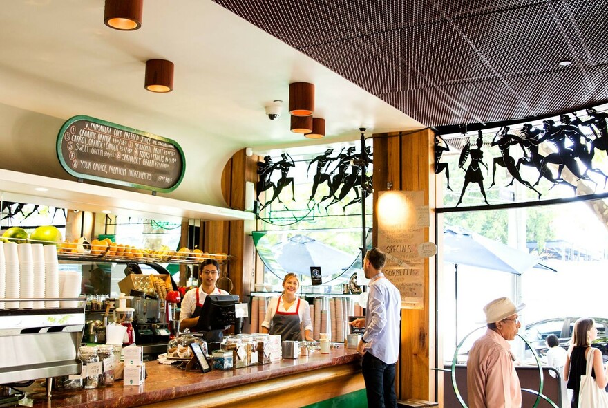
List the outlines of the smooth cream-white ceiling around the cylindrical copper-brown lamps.
{"label": "smooth cream-white ceiling around the cylindrical copper-brown lamps", "polygon": [[[290,82],[316,86],[315,116],[334,142],[422,127],[408,115],[208,0],[146,0],[142,28],[104,25],[102,0],[3,1],[0,103],[67,120],[73,115],[171,138],[186,155],[175,190],[192,201],[221,202],[219,178],[238,149],[254,152],[311,142],[289,131],[265,104],[284,100]],[[174,89],[144,89],[147,59],[175,64]],[[1,166],[1,164],[0,164]],[[200,186],[200,175],[210,186]],[[183,199],[183,198],[182,198]]]}

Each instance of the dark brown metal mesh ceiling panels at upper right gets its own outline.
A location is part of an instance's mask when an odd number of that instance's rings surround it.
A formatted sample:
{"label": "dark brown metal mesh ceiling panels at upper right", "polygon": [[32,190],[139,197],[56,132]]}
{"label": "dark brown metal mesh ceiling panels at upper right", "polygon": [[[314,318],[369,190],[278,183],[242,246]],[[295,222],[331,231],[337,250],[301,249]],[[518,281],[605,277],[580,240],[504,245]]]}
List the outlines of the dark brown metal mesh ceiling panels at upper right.
{"label": "dark brown metal mesh ceiling panels at upper right", "polygon": [[428,126],[608,101],[605,1],[215,1]]}

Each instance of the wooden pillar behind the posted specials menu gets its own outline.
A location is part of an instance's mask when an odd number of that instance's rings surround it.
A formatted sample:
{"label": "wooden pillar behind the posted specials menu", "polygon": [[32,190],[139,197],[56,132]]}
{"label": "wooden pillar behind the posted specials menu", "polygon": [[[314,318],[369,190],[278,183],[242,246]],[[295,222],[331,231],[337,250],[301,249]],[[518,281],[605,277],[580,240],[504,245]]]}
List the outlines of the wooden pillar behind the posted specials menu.
{"label": "wooden pillar behind the posted specials menu", "polygon": [[[374,135],[374,205],[379,192],[388,189],[425,192],[424,203],[435,205],[433,171],[433,133],[429,130],[415,133],[383,133]],[[434,241],[425,230],[425,241]],[[374,244],[377,243],[377,216],[374,212]],[[401,311],[401,357],[397,367],[397,393],[399,398],[435,399],[435,263],[424,263],[424,301],[422,310]],[[431,269],[432,268],[432,269]]]}

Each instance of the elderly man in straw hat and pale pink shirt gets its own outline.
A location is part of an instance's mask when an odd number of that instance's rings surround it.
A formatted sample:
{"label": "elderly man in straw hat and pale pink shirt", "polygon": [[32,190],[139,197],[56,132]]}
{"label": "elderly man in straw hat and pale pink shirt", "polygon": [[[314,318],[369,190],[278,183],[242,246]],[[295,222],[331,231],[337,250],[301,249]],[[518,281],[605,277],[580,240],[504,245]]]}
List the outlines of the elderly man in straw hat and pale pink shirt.
{"label": "elderly man in straw hat and pale pink shirt", "polygon": [[488,330],[468,354],[466,380],[469,408],[521,408],[522,389],[515,373],[515,358],[508,343],[522,326],[515,306],[501,297],[484,306]]}

